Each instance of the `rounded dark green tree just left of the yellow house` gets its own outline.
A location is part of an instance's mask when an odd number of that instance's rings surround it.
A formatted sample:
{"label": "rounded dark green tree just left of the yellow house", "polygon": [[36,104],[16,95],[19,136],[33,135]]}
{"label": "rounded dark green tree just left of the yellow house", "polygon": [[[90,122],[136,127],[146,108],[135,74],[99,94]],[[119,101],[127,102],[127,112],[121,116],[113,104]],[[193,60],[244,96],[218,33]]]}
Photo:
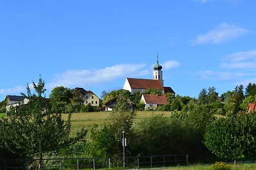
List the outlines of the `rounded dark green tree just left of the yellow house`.
{"label": "rounded dark green tree just left of the yellow house", "polygon": [[55,87],[49,95],[51,99],[52,110],[57,113],[67,113],[67,106],[70,104],[72,92],[67,87]]}

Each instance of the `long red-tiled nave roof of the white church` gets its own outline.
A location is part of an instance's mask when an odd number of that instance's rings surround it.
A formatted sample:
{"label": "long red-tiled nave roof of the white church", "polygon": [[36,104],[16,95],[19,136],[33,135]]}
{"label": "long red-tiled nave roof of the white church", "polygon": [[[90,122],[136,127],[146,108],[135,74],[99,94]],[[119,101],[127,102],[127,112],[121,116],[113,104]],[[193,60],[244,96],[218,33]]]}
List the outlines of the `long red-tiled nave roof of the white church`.
{"label": "long red-tiled nave roof of the white church", "polygon": [[132,89],[159,89],[164,90],[160,80],[127,78]]}

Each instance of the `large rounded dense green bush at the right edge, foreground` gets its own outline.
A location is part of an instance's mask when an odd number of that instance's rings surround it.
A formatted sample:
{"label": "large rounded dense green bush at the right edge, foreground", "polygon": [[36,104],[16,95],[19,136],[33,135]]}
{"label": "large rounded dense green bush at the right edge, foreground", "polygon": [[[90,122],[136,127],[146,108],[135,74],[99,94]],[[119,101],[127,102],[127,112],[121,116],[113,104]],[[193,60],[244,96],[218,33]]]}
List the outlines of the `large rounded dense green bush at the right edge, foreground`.
{"label": "large rounded dense green bush at the right edge, foreground", "polygon": [[205,146],[223,159],[255,159],[255,121],[255,113],[219,118],[207,127]]}

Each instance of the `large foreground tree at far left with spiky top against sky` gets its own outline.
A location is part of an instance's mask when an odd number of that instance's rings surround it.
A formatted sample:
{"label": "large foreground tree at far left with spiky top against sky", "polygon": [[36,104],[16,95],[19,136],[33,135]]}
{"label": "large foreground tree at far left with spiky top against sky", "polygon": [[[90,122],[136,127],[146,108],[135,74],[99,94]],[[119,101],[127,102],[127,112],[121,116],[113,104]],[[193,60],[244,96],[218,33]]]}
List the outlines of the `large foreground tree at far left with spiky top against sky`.
{"label": "large foreground tree at far left with spiky top against sky", "polygon": [[0,118],[0,143],[21,157],[39,157],[38,169],[41,169],[44,154],[66,146],[70,134],[70,117],[64,122],[61,113],[52,113],[43,97],[44,85],[41,77],[38,83],[33,81],[36,94],[31,94],[27,85],[28,94],[22,95],[29,103],[20,106],[17,114]]}

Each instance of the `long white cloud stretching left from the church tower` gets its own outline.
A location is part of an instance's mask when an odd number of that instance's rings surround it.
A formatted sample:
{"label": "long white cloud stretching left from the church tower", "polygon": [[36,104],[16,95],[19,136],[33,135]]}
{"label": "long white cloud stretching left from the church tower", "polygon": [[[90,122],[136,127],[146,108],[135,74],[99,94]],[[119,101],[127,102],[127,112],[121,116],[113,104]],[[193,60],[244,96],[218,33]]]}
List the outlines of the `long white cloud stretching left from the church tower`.
{"label": "long white cloud stretching left from the church tower", "polygon": [[56,74],[54,80],[47,85],[49,88],[63,85],[65,87],[84,86],[85,84],[103,84],[125,76],[142,76],[148,74],[143,69],[145,64],[118,64],[99,70],[68,70]]}

